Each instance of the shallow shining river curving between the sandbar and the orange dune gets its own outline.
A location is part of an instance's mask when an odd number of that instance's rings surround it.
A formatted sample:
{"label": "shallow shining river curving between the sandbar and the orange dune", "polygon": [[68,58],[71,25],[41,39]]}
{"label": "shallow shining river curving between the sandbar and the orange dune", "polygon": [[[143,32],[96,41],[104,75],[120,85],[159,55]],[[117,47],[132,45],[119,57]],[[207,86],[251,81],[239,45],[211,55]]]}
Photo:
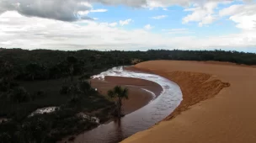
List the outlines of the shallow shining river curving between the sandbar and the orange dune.
{"label": "shallow shining river curving between the sandbar and the orange dune", "polygon": [[104,80],[106,76],[133,77],[157,82],[163,87],[163,92],[159,96],[153,95],[156,98],[153,98],[150,103],[131,114],[125,115],[119,121],[101,124],[93,130],[77,135],[76,139],[73,140],[75,143],[116,143],[124,140],[138,131],[147,130],[164,119],[178,107],[182,100],[181,90],[176,83],[155,74],[126,71],[120,66],[95,75],[93,78]]}

